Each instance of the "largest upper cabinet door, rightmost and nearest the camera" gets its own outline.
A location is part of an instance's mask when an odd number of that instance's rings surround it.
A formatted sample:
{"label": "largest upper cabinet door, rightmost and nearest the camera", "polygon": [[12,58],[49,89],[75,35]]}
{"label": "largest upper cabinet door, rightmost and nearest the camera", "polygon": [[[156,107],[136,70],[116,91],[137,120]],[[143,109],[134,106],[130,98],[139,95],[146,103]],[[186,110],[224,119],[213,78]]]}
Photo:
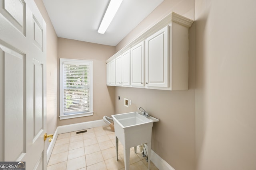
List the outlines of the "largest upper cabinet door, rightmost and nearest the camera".
{"label": "largest upper cabinet door, rightmost and nearest the camera", "polygon": [[169,86],[168,29],[166,26],[146,39],[145,86]]}

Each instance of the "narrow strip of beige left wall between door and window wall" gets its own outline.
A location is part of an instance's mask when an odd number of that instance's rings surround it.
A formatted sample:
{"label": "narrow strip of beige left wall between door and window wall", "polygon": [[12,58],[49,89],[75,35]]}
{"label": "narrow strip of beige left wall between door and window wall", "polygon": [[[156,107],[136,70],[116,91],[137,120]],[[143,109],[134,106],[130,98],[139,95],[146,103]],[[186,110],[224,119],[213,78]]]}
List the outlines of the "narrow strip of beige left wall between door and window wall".
{"label": "narrow strip of beige left wall between door and window wall", "polygon": [[[47,133],[54,134],[57,128],[57,35],[42,0],[35,0],[46,22],[46,113]],[[49,143],[47,143],[49,145]]]}

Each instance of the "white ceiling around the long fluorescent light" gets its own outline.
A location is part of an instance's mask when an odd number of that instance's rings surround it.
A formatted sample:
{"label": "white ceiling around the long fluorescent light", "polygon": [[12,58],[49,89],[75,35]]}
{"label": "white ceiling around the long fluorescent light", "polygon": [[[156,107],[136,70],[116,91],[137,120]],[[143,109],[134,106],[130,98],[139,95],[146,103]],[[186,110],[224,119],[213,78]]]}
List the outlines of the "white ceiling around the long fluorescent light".
{"label": "white ceiling around the long fluorescent light", "polygon": [[123,0],[105,34],[98,33],[109,0],[43,0],[58,37],[116,46],[163,0]]}

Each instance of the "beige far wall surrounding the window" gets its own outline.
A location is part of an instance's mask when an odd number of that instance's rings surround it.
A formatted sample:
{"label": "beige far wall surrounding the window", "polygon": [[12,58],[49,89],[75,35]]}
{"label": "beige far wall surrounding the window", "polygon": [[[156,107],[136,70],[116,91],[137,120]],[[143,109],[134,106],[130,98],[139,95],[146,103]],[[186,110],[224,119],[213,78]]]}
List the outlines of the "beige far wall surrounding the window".
{"label": "beige far wall surrounding the window", "polygon": [[[58,126],[102,119],[115,112],[115,88],[106,86],[106,60],[115,47],[71,39],[58,38],[58,58],[93,61],[93,116],[59,120]],[[59,67],[59,62],[58,62]],[[58,68],[59,69],[59,68]],[[58,102],[59,106],[59,102]],[[59,115],[59,109],[58,114]]]}

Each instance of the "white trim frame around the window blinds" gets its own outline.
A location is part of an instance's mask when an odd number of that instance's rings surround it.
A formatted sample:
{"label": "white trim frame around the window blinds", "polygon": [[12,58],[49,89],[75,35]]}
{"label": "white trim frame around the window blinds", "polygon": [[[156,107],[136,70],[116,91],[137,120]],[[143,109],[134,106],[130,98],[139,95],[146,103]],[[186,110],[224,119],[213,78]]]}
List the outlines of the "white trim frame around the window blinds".
{"label": "white trim frame around the window blinds", "polygon": [[[70,115],[64,115],[63,104],[64,104],[64,94],[63,94],[63,64],[90,64],[90,111],[86,113],[76,113]],[[84,117],[93,115],[93,74],[92,74],[92,61],[89,60],[76,60],[76,59],[60,59],[60,120],[62,119],[71,119],[76,117]]]}

